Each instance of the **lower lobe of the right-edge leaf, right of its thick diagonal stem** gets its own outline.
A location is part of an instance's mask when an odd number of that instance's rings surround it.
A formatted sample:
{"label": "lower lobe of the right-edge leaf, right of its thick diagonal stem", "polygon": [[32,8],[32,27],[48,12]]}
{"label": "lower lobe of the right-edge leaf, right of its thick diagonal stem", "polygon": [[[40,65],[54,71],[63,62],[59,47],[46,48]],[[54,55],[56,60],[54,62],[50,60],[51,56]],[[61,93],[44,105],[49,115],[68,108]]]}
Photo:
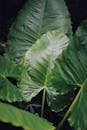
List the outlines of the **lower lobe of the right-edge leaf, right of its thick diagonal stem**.
{"label": "lower lobe of the right-edge leaf, right of its thick diagonal stem", "polygon": [[70,125],[75,130],[87,130],[87,79],[82,84],[72,107],[73,109],[68,119]]}

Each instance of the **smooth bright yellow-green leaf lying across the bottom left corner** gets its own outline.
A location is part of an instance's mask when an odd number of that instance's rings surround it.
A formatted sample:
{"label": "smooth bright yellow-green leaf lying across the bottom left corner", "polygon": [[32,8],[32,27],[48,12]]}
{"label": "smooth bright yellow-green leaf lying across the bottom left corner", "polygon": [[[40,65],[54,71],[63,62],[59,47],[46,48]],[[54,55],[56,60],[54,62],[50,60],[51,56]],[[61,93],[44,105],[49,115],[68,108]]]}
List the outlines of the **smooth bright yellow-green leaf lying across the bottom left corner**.
{"label": "smooth bright yellow-green leaf lying across the bottom left corner", "polygon": [[5,103],[0,103],[0,120],[25,130],[54,130],[47,120]]}

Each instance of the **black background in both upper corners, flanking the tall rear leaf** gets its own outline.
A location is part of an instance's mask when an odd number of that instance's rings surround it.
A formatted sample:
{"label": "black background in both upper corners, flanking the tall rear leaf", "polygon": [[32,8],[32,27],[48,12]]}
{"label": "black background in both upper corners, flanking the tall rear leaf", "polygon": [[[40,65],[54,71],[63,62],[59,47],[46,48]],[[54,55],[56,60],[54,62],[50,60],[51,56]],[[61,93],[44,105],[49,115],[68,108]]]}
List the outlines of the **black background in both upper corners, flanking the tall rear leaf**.
{"label": "black background in both upper corners, flanking the tall rear leaf", "polygon": [[[8,28],[27,0],[0,0],[0,39],[7,40]],[[65,0],[71,14],[73,30],[87,18],[87,0]]]}

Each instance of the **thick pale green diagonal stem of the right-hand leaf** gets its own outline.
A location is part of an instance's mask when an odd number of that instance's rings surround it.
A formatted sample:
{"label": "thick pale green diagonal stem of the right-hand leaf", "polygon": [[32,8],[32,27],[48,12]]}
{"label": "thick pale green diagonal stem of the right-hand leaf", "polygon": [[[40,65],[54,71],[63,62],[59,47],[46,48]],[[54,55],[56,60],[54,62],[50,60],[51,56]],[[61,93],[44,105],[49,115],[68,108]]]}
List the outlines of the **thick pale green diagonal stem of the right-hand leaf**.
{"label": "thick pale green diagonal stem of the right-hand leaf", "polygon": [[68,118],[69,114],[71,113],[71,111],[73,110],[73,108],[75,107],[76,103],[78,102],[78,99],[79,99],[79,96],[80,96],[80,93],[82,91],[82,88],[80,88],[78,94],[76,95],[74,101],[72,102],[71,106],[69,107],[68,111],[66,112],[64,118],[62,119],[62,121],[57,125],[57,129],[56,130],[60,130],[61,127],[63,126],[64,122],[66,121],[66,119]]}

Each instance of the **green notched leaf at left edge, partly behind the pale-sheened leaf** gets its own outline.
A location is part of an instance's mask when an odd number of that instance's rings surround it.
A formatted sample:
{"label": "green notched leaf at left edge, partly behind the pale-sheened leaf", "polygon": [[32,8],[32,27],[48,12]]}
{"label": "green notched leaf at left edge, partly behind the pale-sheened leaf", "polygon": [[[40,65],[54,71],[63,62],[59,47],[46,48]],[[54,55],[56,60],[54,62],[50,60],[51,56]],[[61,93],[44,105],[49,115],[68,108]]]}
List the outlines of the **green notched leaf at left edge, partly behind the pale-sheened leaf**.
{"label": "green notched leaf at left edge, partly behind the pale-sheened leaf", "polygon": [[7,56],[0,57],[0,99],[9,102],[22,100],[19,89],[8,80],[9,77],[17,78],[17,67]]}

